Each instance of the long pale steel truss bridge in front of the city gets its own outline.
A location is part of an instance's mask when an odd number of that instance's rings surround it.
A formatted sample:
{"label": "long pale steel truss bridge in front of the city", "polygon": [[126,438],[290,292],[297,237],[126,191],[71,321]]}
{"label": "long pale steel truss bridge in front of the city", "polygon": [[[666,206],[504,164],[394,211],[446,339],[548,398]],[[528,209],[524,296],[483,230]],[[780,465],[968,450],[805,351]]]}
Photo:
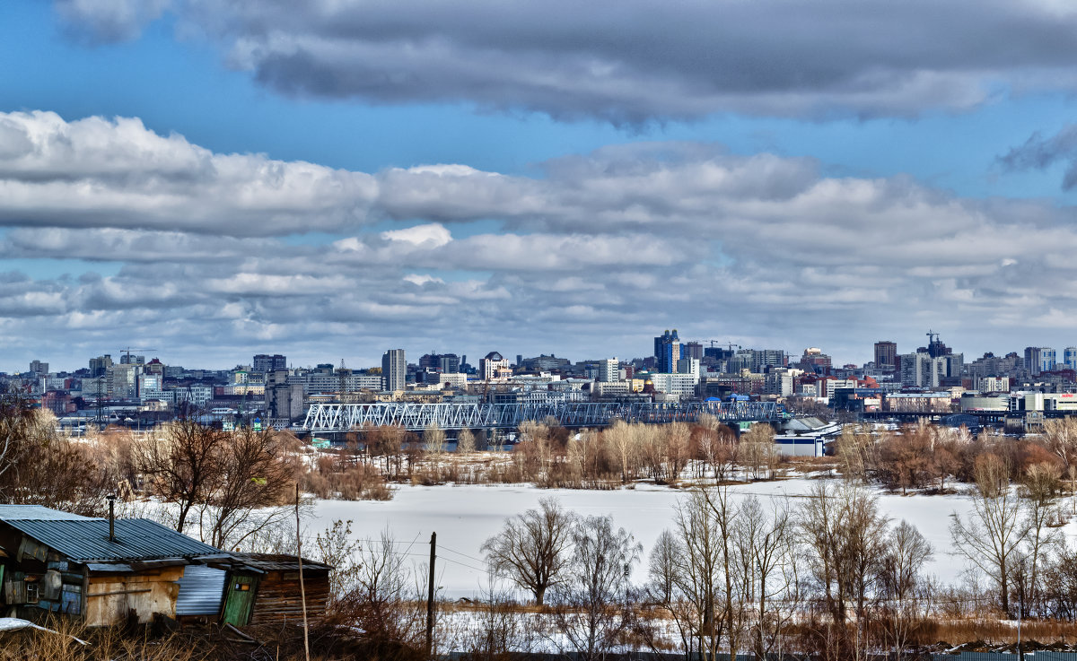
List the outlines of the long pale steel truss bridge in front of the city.
{"label": "long pale steel truss bridge in front of the city", "polygon": [[773,402],[693,402],[687,404],[578,402],[561,404],[313,404],[299,427],[312,433],[348,432],[381,425],[421,432],[442,430],[512,430],[528,420],[556,419],[567,427],[600,427],[625,422],[696,422],[710,413],[725,423],[782,422],[785,407]]}

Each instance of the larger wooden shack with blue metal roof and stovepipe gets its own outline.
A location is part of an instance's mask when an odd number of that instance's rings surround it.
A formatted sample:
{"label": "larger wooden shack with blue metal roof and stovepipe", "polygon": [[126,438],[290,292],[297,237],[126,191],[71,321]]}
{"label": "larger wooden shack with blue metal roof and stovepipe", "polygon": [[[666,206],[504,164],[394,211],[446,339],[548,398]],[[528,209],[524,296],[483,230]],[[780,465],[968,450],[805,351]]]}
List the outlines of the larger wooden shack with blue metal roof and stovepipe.
{"label": "larger wooden shack with blue metal roof and stovepipe", "polygon": [[62,613],[88,625],[134,615],[176,617],[192,563],[228,558],[149,519],[90,519],[45,507],[0,505],[0,608],[32,618]]}

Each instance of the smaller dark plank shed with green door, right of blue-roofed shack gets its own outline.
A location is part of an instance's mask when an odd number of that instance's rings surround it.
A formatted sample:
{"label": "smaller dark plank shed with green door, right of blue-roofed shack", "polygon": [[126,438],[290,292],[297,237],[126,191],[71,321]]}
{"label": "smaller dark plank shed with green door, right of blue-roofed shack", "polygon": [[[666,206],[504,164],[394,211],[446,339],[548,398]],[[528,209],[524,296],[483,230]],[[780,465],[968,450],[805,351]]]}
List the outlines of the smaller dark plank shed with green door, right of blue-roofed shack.
{"label": "smaller dark plank shed with green door, right of blue-roofed shack", "polygon": [[[299,561],[295,555],[230,553],[226,561],[209,563],[226,569],[222,621],[246,624],[290,624],[303,621],[299,590]],[[303,582],[307,594],[307,619],[325,617],[330,597],[332,566],[303,560]]]}

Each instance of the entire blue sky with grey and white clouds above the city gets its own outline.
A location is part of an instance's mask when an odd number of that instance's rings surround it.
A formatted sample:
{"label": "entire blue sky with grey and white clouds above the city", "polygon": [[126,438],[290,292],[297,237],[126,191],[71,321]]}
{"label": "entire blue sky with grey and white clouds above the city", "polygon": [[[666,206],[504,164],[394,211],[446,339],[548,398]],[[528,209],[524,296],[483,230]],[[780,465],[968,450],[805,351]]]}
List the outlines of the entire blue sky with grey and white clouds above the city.
{"label": "entire blue sky with grey and white clouds above the city", "polygon": [[1064,0],[6,0],[0,370],[1061,349],[1075,93]]}

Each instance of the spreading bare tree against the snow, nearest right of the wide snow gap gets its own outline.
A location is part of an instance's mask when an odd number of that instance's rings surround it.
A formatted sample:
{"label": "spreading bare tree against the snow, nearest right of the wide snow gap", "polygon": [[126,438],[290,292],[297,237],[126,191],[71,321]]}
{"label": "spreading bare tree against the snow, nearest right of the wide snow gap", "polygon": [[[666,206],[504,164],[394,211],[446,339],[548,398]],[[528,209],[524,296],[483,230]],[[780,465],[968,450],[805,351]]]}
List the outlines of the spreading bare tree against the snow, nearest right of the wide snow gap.
{"label": "spreading bare tree against the snow, nearest right of the wide snow gap", "polygon": [[1002,459],[991,453],[977,458],[976,488],[968,520],[950,515],[950,536],[955,550],[995,583],[999,604],[1009,614],[1010,571],[1029,528]]}

